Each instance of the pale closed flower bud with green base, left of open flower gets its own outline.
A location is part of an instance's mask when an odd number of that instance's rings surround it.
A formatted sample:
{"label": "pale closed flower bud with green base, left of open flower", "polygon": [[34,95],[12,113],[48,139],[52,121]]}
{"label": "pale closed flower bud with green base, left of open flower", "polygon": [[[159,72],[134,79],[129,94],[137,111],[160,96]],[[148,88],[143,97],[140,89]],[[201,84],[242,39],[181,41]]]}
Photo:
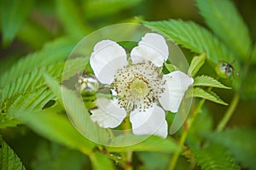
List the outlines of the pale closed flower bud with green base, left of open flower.
{"label": "pale closed flower bud with green base, left of open flower", "polygon": [[96,108],[96,92],[99,89],[99,82],[96,77],[91,74],[78,73],[78,82],[75,84],[75,88],[79,94],[82,95],[85,107],[90,110]]}

